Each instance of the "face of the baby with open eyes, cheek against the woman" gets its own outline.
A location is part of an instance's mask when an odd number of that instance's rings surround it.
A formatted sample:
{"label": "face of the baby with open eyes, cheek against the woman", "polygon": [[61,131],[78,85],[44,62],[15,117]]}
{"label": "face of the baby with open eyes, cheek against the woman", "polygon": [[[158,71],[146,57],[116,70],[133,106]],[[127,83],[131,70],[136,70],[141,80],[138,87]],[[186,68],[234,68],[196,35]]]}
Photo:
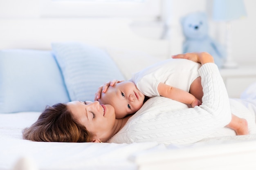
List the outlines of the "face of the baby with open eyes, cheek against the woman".
{"label": "face of the baby with open eyes, cheek against the woman", "polygon": [[100,104],[110,104],[115,108],[117,119],[137,112],[143,105],[145,95],[130,81],[109,86],[106,93],[101,93]]}

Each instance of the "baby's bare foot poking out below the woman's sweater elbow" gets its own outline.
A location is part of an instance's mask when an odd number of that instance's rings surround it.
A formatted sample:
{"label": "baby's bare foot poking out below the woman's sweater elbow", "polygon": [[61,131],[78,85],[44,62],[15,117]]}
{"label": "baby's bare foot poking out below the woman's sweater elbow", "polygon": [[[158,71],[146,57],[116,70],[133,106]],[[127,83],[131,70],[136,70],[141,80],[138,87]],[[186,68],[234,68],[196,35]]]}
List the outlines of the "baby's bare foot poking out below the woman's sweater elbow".
{"label": "baby's bare foot poking out below the woman's sweater elbow", "polygon": [[249,134],[248,124],[246,119],[242,119],[232,114],[231,122],[227,125],[236,131],[236,135],[247,135]]}

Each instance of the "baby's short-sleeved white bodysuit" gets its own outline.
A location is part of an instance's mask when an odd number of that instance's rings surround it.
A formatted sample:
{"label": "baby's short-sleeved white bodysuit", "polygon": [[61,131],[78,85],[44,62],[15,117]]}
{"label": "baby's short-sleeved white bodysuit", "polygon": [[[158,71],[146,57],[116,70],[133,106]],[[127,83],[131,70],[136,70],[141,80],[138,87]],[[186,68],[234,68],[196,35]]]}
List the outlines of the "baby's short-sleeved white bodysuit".
{"label": "baby's short-sleeved white bodysuit", "polygon": [[159,96],[159,82],[189,92],[191,83],[200,76],[200,66],[191,60],[168,59],[135,73],[131,81],[148,97]]}

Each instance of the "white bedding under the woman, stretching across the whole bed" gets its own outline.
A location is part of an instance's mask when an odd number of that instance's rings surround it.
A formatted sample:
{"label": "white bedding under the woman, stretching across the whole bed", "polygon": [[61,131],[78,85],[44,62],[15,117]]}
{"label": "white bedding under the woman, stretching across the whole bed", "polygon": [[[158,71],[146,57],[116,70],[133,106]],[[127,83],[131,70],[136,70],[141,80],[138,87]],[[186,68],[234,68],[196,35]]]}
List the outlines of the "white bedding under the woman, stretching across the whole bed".
{"label": "white bedding under the woman, stretching across the whole bed", "polygon": [[[251,150],[256,155],[254,151],[254,148],[256,150],[256,135],[214,137],[187,146],[165,146],[155,142],[101,144],[23,140],[22,129],[36,121],[39,115],[38,112],[0,114],[0,170],[11,170],[21,157],[31,159],[40,170],[137,170],[144,167],[145,163],[146,165],[153,163],[152,167],[155,167],[164,165],[164,160],[166,163],[171,163],[174,159],[183,160],[189,155],[189,157],[201,159],[204,154],[211,159],[216,159],[216,148],[227,148],[230,144],[236,147],[222,150],[222,152],[218,150],[217,156],[226,155],[225,159],[229,160],[232,153],[240,152],[239,148],[245,151]],[[252,148],[252,146],[255,147]],[[184,152],[186,154],[181,156]],[[159,155],[158,159],[155,155]],[[166,155],[169,158],[167,160],[162,158],[162,163],[159,164],[159,158],[166,157]],[[180,163],[180,166],[184,167],[184,163]],[[186,165],[186,167],[189,166],[190,164]],[[205,164],[204,168],[207,166]],[[162,168],[168,169],[169,167],[170,165],[166,165]]]}

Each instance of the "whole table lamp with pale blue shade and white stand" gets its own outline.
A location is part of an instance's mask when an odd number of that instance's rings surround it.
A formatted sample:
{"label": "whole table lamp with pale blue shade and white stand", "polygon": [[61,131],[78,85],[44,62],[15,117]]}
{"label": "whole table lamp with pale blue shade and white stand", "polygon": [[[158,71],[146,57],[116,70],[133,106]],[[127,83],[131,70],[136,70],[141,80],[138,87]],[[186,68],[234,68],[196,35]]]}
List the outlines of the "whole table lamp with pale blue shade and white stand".
{"label": "whole table lamp with pale blue shade and white stand", "polygon": [[216,21],[226,22],[226,50],[227,58],[224,68],[236,68],[238,64],[232,59],[231,47],[231,21],[246,16],[243,0],[213,0],[212,18]]}

